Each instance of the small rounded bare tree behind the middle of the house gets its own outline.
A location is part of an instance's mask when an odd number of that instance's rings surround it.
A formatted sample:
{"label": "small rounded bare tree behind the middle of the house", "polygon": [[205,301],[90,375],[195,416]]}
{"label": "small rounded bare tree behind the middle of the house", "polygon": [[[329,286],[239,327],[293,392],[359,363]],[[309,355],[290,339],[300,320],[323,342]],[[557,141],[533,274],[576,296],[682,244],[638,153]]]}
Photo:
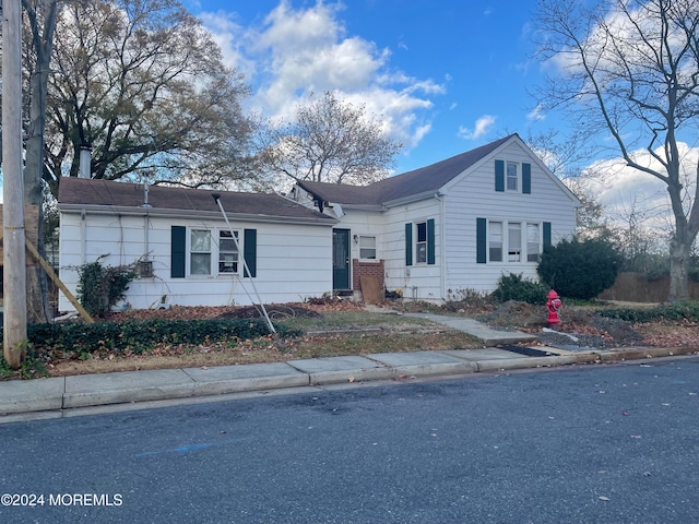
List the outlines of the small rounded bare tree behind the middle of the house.
{"label": "small rounded bare tree behind the middle of the house", "polygon": [[389,175],[402,144],[384,136],[366,106],[332,92],[309,96],[293,122],[270,126],[262,156],[268,168],[294,180],[367,184]]}

